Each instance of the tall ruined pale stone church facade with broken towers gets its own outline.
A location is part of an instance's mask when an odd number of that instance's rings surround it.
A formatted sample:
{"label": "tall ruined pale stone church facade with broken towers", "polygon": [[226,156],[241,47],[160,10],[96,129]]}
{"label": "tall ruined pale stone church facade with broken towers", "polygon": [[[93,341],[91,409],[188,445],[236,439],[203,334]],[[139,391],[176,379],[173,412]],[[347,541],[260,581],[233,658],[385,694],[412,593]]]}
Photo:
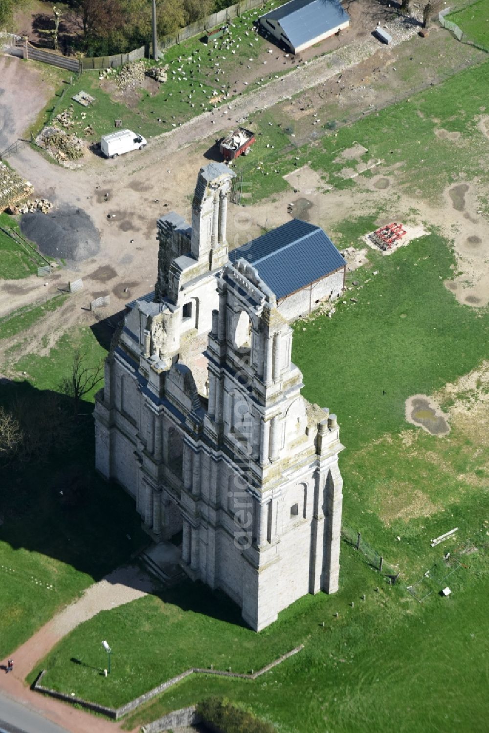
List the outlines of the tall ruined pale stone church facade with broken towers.
{"label": "tall ruined pale stone church facade with broken towers", "polygon": [[292,330],[249,263],[227,262],[232,173],[199,173],[192,226],[158,221],[155,300],[137,301],[95,404],[96,466],[157,541],[255,630],[338,588],[336,416],[301,397]]}

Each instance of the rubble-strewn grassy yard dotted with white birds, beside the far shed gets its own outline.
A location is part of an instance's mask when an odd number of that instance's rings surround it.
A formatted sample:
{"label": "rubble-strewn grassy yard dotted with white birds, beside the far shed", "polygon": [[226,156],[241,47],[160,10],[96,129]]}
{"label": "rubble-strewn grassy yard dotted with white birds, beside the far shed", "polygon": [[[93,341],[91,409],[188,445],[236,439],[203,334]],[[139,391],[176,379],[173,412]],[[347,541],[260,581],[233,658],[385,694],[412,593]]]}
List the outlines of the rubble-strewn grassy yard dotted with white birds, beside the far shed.
{"label": "rubble-strewn grassy yard dotted with white birds, beside the far shed", "polygon": [[[53,122],[56,115],[68,111],[69,127],[82,138],[96,141],[101,134],[114,129],[115,119],[121,120],[122,127],[140,130],[149,138],[215,108],[216,116],[229,114],[230,119],[232,111],[226,106],[232,100],[265,88],[268,82],[284,74],[304,70],[314,59],[322,58],[328,67],[334,54],[341,51],[345,57],[353,56],[350,64],[354,65],[359,59],[355,59],[355,53],[349,53],[348,47],[352,43],[367,43],[365,23],[375,27],[377,22],[389,21],[400,37],[408,29],[406,25],[402,31],[402,18],[393,8],[370,1],[360,11],[353,4],[350,29],[293,56],[263,37],[254,26],[258,16],[276,4],[268,2],[260,10],[234,18],[229,23],[229,32],[215,42],[207,43],[205,36],[200,35],[166,49],[158,62],[158,68],[167,76],[163,83],[147,75],[155,62],[144,60],[133,62],[122,73],[115,69],[101,73],[85,71],[73,86],[65,86],[64,97],[55,97],[48,103],[40,122],[43,125]],[[71,98],[81,90],[95,98],[89,108],[72,102]]]}

